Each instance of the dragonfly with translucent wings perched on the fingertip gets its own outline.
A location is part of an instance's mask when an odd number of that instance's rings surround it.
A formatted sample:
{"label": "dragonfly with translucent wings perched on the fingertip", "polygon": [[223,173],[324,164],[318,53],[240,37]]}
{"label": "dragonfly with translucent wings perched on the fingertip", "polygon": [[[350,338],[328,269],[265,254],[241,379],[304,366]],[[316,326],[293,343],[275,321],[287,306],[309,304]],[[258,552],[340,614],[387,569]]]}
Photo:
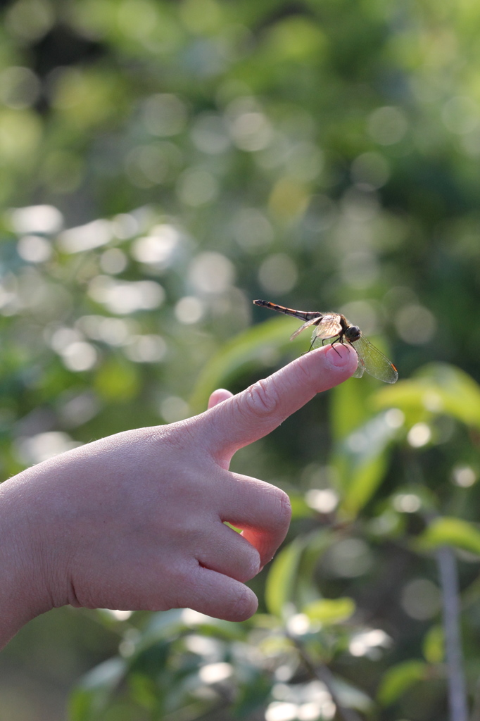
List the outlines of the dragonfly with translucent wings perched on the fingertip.
{"label": "dragonfly with translucent wings perched on the fingertip", "polygon": [[298,330],[295,330],[290,340],[296,338],[298,334],[306,328],[313,326],[314,332],[308,350],[314,348],[318,340],[321,340],[321,345],[324,345],[326,340],[333,339],[331,344],[332,348],[334,348],[335,343],[342,343],[342,345],[347,343],[351,345],[352,348],[355,349],[358,357],[357,370],[353,373],[354,378],[361,378],[363,373],[367,371],[370,376],[373,376],[373,378],[379,381],[396,383],[399,373],[394,364],[389,361],[386,355],[383,355],[378,348],[375,348],[373,343],[370,343],[370,341],[365,338],[357,325],[350,323],[341,313],[295,311],[293,308],[278,306],[276,303],[270,303],[270,301],[257,300],[254,301],[254,304],[303,320],[303,325],[301,325]]}

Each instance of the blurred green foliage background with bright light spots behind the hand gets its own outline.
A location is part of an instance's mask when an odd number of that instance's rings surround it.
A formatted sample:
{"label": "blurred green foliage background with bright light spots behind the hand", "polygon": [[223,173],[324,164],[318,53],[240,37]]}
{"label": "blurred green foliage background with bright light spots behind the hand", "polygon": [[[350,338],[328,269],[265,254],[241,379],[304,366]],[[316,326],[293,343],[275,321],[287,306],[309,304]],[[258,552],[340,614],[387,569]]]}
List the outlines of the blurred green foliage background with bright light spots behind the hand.
{"label": "blurred green foliage background with bright light spots behind the hand", "polygon": [[441,544],[471,696],[480,671],[478,4],[1,14],[3,477],[307,350],[253,298],[342,311],[401,380],[347,381],[237,454],[294,508],[259,614],[47,614],[3,653],[0,716],[63,718],[89,670],[73,721],[333,719],[330,691],[445,719]]}

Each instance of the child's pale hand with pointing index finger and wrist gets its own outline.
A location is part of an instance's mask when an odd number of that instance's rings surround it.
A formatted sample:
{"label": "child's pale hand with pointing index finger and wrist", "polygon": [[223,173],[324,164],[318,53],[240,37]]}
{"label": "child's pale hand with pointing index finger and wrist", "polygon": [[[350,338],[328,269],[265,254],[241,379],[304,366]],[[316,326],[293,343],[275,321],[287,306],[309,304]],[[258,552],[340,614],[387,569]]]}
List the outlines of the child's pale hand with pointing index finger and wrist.
{"label": "child's pale hand with pointing index finger and wrist", "polygon": [[2,483],[0,647],[67,603],[252,616],[245,583],[285,538],[290,502],[230,472],[231,457],[356,366],[352,348],[319,348],[236,396],[218,389],[200,415],[88,443]]}

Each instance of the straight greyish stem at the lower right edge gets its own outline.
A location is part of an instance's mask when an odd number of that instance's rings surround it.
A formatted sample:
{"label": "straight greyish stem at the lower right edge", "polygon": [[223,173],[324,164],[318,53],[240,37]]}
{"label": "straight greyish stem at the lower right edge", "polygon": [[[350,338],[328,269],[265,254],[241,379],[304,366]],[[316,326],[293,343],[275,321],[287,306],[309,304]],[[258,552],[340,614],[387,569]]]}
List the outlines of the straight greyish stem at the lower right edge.
{"label": "straight greyish stem at the lower right edge", "polygon": [[453,549],[443,546],[437,551],[440,586],[443,598],[443,627],[448,668],[448,703],[451,721],[468,721],[465,674],[460,634],[460,593],[457,562]]}

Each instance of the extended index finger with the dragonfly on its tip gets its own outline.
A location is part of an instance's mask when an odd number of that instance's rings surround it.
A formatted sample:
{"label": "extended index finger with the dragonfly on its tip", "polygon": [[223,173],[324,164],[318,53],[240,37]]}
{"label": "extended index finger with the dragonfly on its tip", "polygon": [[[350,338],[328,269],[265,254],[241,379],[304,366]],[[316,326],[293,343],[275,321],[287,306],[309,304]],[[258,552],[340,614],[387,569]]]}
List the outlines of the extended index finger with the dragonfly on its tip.
{"label": "extended index finger with the dragonfly on its tip", "polygon": [[214,456],[231,459],[235,451],[270,433],[317,393],[346,381],[357,368],[348,345],[311,350],[243,392],[210,407],[197,419],[205,423]]}

